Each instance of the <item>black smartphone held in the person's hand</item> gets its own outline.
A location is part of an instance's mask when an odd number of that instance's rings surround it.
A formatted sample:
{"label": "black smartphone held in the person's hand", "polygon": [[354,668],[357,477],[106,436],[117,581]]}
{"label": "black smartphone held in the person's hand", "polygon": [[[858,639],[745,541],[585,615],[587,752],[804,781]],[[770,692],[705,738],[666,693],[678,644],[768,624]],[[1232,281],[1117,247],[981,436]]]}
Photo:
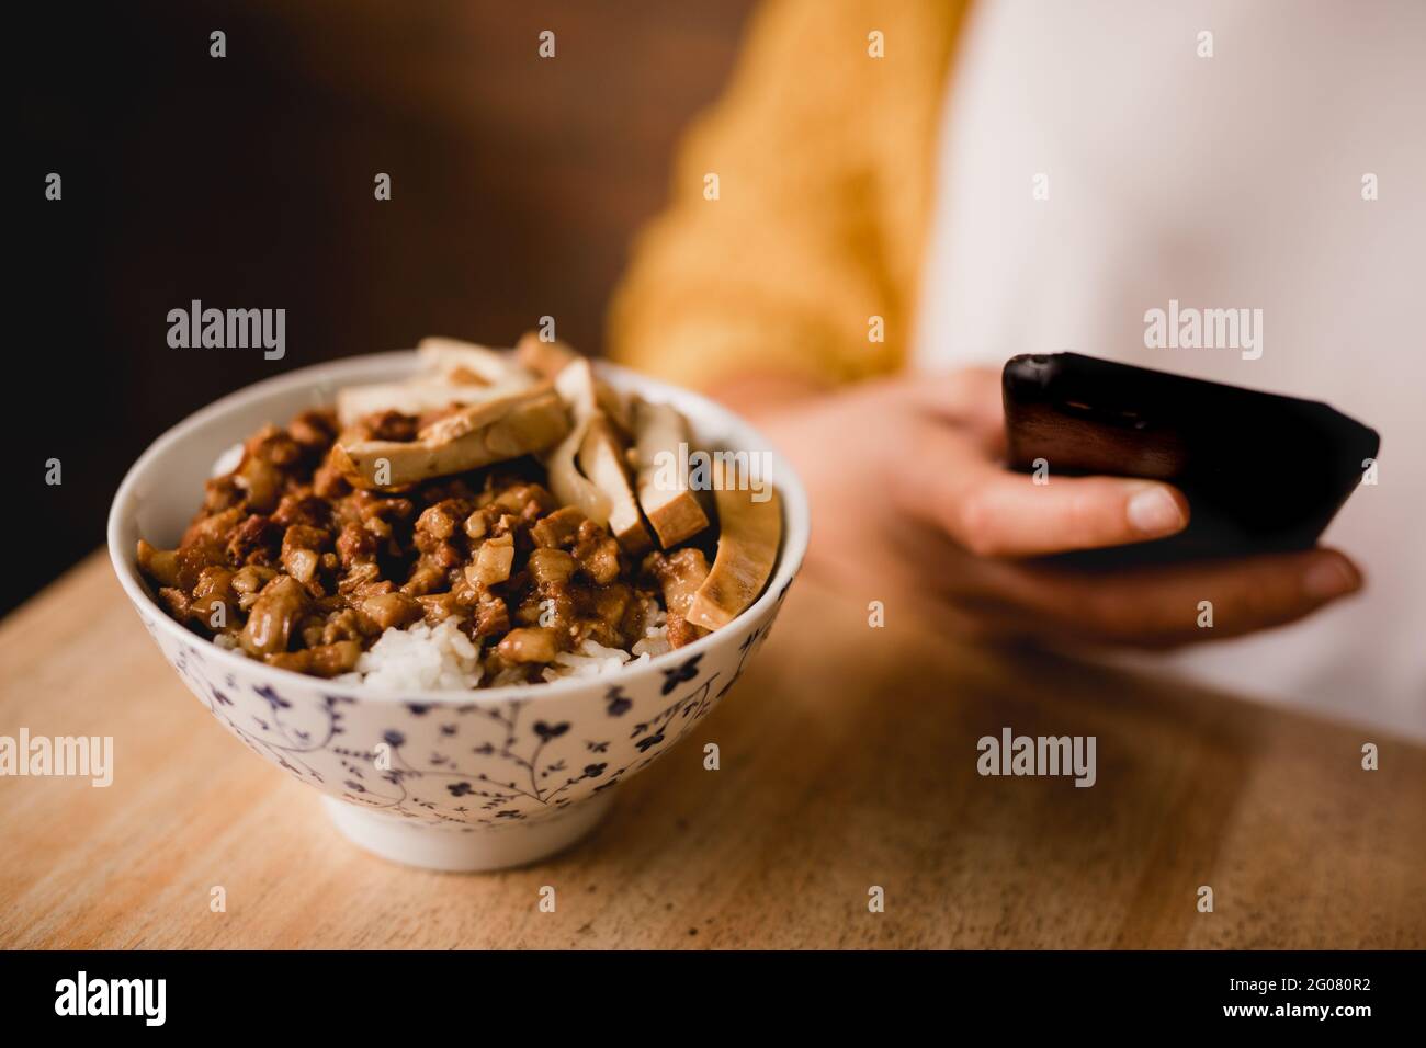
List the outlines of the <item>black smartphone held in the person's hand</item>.
{"label": "black smartphone held in the person's hand", "polygon": [[1375,429],[1319,401],[1079,354],[1014,356],[1001,376],[1010,465],[1168,481],[1189,525],[1152,542],[1052,558],[1122,567],[1309,549],[1375,459]]}

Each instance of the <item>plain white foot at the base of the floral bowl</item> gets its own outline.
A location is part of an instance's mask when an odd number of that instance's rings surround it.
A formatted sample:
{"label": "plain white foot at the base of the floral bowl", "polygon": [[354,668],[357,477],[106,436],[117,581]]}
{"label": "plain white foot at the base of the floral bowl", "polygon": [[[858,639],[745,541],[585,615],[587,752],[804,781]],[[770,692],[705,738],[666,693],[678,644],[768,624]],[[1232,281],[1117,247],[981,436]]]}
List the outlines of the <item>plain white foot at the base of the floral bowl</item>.
{"label": "plain white foot at the base of the floral bowl", "polygon": [[495,828],[475,827],[466,833],[459,827],[422,826],[335,797],[322,797],[327,814],[354,844],[395,863],[452,873],[503,870],[548,858],[599,826],[612,803],[613,797],[605,793],[555,816]]}

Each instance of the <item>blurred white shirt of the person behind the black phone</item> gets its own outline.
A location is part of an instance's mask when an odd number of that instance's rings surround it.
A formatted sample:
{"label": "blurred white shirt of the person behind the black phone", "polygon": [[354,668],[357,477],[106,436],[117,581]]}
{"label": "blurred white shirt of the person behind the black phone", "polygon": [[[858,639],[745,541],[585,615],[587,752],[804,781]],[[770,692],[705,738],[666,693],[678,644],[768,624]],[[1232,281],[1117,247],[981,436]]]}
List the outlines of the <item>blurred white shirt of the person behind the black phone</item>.
{"label": "blurred white shirt of the person behind the black phone", "polygon": [[[1072,349],[1375,428],[1323,536],[1366,590],[1166,662],[1426,739],[1426,3],[987,0],[961,44],[915,364]],[[1262,356],[1145,348],[1171,299],[1262,309]]]}

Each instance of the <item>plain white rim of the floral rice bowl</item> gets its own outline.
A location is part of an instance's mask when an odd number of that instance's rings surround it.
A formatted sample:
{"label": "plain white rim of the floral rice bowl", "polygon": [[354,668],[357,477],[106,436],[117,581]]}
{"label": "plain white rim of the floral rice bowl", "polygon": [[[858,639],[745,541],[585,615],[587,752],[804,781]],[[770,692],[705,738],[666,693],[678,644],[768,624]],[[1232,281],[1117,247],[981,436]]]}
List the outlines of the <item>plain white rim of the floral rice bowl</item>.
{"label": "plain white rim of the floral rice bowl", "polygon": [[[769,443],[756,426],[707,396],[662,382],[629,368],[622,368],[616,364],[596,359],[593,361],[595,369],[600,375],[613,378],[617,385],[636,386],[643,392],[663,396],[669,402],[683,401],[694,404],[702,413],[712,415],[714,418],[722,416],[723,423],[732,423],[733,426],[746,431],[747,436],[750,436],[757,446],[766,448],[774,455],[774,461],[779,468],[777,493],[783,499],[783,546],[779,550],[777,563],[773,567],[773,576],[769,579],[761,596],[754,600],[750,607],[744,609],[743,613],[723,630],[714,630],[707,636],[699,637],[692,644],[684,644],[683,647],[653,656],[649,662],[642,663],[637,667],[625,667],[620,672],[592,677],[563,677],[560,680],[549,680],[535,684],[502,684],[501,687],[478,687],[469,690],[384,690],[368,689],[365,684],[339,684],[324,677],[298,673],[297,670],[268,666],[267,663],[248,659],[247,656],[234,654],[227,649],[218,647],[211,640],[207,640],[174,622],[168,613],[148,595],[148,587],[138,576],[137,563],[131,563],[130,555],[120,549],[120,530],[124,523],[121,510],[128,506],[133,499],[134,489],[153,468],[153,463],[158,461],[170,448],[188,436],[194,429],[208,422],[221,419],[224,415],[237,411],[238,408],[245,408],[254,402],[262,401],[267,396],[302,389],[305,386],[321,388],[324,381],[332,379],[347,371],[379,371],[386,365],[395,366],[414,359],[414,349],[394,349],[386,352],[341,356],[321,364],[311,364],[304,368],[295,368],[294,371],[274,375],[272,378],[235,389],[207,406],[200,408],[181,422],[177,422],[160,433],[124,473],[124,479],[120,482],[118,489],[114,492],[114,499],[110,503],[106,526],[106,545],[108,548],[110,562],[114,566],[114,573],[118,576],[120,585],[128,595],[128,599],[134,602],[134,606],[154,619],[157,622],[157,629],[165,630],[174,640],[180,643],[205,644],[208,652],[205,652],[204,659],[212,656],[218,666],[255,673],[260,680],[265,680],[274,686],[282,684],[284,682],[297,683],[299,680],[309,687],[319,687],[332,696],[388,704],[405,704],[411,702],[432,706],[445,703],[496,704],[512,699],[523,702],[538,702],[540,697],[546,696],[549,699],[556,699],[560,696],[570,696],[578,692],[586,692],[590,687],[607,689],[619,684],[620,680],[645,677],[655,670],[667,669],[674,664],[684,663],[693,656],[704,654],[713,647],[727,642],[729,635],[724,633],[724,630],[732,630],[733,625],[742,619],[756,617],[770,605],[777,602],[779,595],[786,590],[786,587],[796,577],[797,570],[801,567],[803,555],[807,552],[807,540],[811,535],[811,519],[807,505],[807,493],[786,456]],[[242,438],[240,436],[238,439]]]}

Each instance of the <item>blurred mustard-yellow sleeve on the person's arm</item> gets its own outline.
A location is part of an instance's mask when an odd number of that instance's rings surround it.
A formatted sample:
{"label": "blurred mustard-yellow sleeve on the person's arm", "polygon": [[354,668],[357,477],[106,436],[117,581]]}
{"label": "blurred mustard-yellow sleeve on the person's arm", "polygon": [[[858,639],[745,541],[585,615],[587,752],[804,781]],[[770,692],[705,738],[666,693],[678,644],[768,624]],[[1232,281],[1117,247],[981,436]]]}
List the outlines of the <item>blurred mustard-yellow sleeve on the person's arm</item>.
{"label": "blurred mustard-yellow sleeve on the person's arm", "polygon": [[771,0],[754,14],[615,294],[615,359],[694,386],[900,365],[958,9]]}

